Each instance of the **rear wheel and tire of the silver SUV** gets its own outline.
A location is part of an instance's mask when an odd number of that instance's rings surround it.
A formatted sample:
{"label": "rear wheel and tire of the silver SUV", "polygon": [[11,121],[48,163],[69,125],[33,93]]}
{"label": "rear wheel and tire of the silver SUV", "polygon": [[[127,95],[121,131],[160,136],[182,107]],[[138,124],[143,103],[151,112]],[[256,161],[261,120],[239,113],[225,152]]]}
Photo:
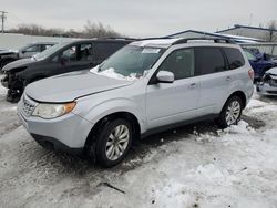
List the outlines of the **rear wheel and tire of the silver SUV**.
{"label": "rear wheel and tire of the silver SUV", "polygon": [[243,101],[239,96],[232,96],[225,103],[217,123],[222,128],[226,128],[230,125],[236,125],[240,119],[243,111]]}

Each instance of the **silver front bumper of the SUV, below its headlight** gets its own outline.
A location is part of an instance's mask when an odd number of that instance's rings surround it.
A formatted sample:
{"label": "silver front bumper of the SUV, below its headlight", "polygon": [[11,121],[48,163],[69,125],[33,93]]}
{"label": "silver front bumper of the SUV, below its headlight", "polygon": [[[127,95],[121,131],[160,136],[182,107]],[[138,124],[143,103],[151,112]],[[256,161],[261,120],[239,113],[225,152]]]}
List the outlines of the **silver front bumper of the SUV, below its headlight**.
{"label": "silver front bumper of the SUV, below its headlight", "polygon": [[18,116],[38,143],[48,143],[55,149],[68,149],[66,152],[80,152],[84,148],[93,124],[74,113],[68,113],[53,119],[32,116],[32,112],[27,115],[23,110],[23,97],[27,98],[27,96],[23,95],[18,104]]}

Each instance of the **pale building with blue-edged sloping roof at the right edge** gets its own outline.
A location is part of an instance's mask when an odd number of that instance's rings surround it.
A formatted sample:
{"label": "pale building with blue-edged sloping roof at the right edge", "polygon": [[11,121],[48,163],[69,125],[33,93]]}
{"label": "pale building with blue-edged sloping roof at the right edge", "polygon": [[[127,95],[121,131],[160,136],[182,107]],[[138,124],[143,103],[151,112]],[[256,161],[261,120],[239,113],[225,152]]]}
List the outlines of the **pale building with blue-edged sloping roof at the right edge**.
{"label": "pale building with blue-edged sloping roof at the right edge", "polygon": [[[220,30],[217,34],[230,34],[261,39],[264,41],[277,41],[277,30],[235,24],[233,28]],[[270,39],[271,38],[271,39]]]}

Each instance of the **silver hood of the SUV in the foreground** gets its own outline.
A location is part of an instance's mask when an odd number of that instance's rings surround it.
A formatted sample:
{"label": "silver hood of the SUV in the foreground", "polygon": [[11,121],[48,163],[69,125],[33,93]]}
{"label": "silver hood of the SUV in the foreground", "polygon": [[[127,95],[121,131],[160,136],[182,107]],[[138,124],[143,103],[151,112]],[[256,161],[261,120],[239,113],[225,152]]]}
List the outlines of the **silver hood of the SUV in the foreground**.
{"label": "silver hood of the SUV in the foreground", "polygon": [[134,81],[117,80],[88,71],[72,72],[31,83],[25,94],[39,102],[63,103],[132,84]]}

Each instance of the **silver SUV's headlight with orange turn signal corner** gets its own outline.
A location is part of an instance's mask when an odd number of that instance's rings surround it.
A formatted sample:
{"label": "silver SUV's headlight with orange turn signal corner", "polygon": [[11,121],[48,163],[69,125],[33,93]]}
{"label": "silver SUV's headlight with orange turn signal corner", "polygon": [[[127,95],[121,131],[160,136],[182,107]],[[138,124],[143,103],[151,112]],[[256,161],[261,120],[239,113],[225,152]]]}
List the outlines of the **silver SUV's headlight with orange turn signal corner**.
{"label": "silver SUV's headlight with orange turn signal corner", "polygon": [[75,102],[64,104],[40,103],[34,108],[32,115],[45,119],[55,118],[71,112],[75,107]]}

